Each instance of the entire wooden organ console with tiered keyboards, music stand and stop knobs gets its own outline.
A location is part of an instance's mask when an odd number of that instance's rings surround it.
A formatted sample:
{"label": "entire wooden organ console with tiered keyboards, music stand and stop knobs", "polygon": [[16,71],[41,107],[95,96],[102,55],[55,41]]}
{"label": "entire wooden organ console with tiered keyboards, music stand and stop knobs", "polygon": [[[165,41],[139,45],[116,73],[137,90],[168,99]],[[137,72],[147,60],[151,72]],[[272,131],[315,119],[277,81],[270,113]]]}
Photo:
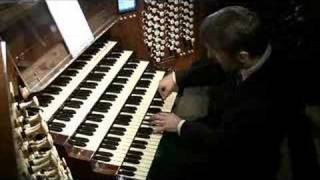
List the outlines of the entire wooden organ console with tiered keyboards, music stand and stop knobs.
{"label": "entire wooden organ console with tiered keyboards, music stand and stop knobs", "polygon": [[0,1],[1,178],[147,179],[162,138],[149,118],[176,98],[157,93],[165,70],[205,54],[201,19],[243,5],[120,1]]}

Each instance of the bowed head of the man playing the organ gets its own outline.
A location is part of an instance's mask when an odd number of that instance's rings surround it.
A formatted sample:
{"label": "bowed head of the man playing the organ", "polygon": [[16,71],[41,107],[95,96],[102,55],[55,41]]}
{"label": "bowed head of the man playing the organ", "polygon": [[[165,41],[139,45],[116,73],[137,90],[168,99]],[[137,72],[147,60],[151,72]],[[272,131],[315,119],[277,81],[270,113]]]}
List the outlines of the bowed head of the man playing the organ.
{"label": "bowed head of the man playing the organ", "polygon": [[215,57],[226,71],[251,67],[269,43],[256,13],[240,6],[209,15],[201,25],[200,38],[208,56]]}

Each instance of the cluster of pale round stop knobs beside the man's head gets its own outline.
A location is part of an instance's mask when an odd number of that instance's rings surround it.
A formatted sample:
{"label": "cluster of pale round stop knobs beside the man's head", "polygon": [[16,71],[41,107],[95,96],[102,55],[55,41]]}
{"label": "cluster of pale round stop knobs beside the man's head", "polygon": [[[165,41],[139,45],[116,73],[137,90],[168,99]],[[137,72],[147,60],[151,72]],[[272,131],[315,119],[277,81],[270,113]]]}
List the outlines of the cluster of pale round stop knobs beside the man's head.
{"label": "cluster of pale round stop knobs beside the man's head", "polygon": [[[160,62],[167,53],[185,55],[193,52],[194,5],[192,0],[146,0],[143,13],[144,42],[150,56]],[[187,44],[187,45],[186,45]],[[166,51],[167,50],[167,51]]]}

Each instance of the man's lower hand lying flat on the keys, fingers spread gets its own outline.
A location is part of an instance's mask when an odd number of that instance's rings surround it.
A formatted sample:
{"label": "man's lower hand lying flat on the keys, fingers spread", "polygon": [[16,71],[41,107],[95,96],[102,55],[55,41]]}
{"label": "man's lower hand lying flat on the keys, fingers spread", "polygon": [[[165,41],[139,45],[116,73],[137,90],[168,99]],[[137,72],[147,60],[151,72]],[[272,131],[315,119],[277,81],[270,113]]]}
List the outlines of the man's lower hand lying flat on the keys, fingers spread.
{"label": "man's lower hand lying flat on the keys, fingers spread", "polygon": [[153,115],[151,120],[155,125],[154,132],[162,133],[163,131],[177,132],[177,126],[181,118],[174,113],[158,113]]}

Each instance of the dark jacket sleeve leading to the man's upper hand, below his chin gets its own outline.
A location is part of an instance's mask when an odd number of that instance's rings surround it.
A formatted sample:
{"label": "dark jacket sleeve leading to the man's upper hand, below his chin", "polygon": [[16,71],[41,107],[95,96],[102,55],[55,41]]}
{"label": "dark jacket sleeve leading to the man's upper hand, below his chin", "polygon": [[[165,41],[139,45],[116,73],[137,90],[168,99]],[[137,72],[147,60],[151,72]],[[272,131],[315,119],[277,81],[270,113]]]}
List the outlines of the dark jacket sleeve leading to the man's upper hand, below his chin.
{"label": "dark jacket sleeve leading to the man's upper hand, below his chin", "polygon": [[225,80],[225,73],[217,63],[209,60],[195,61],[187,71],[177,71],[176,80],[180,89],[192,86],[212,86]]}

